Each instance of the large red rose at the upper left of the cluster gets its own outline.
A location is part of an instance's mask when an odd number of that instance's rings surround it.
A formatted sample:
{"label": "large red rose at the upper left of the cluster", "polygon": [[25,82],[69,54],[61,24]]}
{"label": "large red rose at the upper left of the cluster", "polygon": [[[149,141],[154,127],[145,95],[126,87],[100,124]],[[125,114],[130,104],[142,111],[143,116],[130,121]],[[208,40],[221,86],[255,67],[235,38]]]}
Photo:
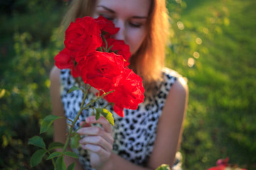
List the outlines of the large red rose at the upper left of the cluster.
{"label": "large red rose at the upper left of the cluster", "polygon": [[64,44],[75,56],[75,61],[80,62],[85,55],[102,45],[100,26],[90,16],[77,18],[65,31]]}

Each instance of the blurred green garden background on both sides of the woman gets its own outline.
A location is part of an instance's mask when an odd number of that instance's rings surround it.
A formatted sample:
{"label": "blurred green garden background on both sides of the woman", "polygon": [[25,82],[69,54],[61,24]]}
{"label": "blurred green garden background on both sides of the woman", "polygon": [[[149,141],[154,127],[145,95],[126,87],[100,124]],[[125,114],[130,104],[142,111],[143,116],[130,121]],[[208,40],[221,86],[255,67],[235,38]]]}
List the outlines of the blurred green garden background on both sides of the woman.
{"label": "blurred green garden background on both sides of the woman", "polygon": [[[183,169],[217,159],[256,169],[256,2],[169,0],[166,66],[188,79]],[[0,1],[0,168],[30,169],[39,123],[50,114],[48,74],[63,47],[61,0]],[[44,137],[51,141],[52,132]],[[50,161],[35,169],[50,169]]]}

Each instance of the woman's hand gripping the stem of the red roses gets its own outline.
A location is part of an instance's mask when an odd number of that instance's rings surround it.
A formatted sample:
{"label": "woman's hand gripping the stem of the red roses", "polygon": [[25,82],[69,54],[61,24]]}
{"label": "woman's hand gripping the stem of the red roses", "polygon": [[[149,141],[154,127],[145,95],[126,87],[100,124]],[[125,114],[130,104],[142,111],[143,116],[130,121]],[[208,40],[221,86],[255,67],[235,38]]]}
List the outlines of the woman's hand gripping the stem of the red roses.
{"label": "woman's hand gripping the stem of the red roses", "polygon": [[112,127],[102,116],[98,120],[95,120],[95,116],[86,118],[87,125],[92,123],[100,123],[102,128],[89,126],[78,130],[81,136],[85,136],[80,140],[80,145],[90,153],[92,168],[102,169],[107,165],[110,166],[110,156],[114,142]]}

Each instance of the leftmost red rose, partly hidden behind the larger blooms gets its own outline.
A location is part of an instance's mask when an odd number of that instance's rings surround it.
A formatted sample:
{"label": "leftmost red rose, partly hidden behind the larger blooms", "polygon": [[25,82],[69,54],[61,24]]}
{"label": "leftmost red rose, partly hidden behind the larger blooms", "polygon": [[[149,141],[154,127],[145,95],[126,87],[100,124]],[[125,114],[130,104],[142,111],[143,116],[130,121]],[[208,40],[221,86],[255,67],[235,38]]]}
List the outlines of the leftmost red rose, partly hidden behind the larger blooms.
{"label": "leftmost red rose, partly hidden behind the larger blooms", "polygon": [[75,66],[75,58],[72,57],[70,50],[64,48],[54,57],[55,66],[59,69],[71,69],[73,77],[80,77],[80,70]]}

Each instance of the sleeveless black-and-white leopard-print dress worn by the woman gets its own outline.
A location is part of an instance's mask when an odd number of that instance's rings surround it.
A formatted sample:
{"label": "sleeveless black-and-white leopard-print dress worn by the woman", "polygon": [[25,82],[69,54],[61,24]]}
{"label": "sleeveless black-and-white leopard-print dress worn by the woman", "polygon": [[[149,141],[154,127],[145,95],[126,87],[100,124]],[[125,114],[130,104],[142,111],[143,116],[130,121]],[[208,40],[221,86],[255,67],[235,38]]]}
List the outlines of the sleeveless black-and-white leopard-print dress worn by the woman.
{"label": "sleeveless black-and-white leopard-print dress worn by the woman", "polygon": [[[157,123],[161,116],[166,96],[169,94],[169,90],[176,81],[178,74],[171,69],[164,68],[162,77],[163,79],[155,87],[154,93],[151,96],[145,95],[144,102],[139,104],[137,110],[124,109],[124,118],[114,113],[112,106],[107,108],[113,113],[114,117],[114,127],[112,127],[114,137],[113,152],[139,166],[146,166],[147,160],[151,155],[156,138]],[[68,90],[71,87],[78,86],[78,83],[70,74],[70,69],[61,70],[60,84],[65,116],[73,120],[80,110],[82,91],[73,91],[68,94]],[[95,94],[89,93],[85,103],[92,98],[95,98]],[[107,101],[101,98],[94,106],[97,108],[106,104]],[[85,121],[85,118],[90,115],[92,115],[92,110],[83,111],[74,129],[77,129],[80,122]],[[68,120],[67,123],[70,124]],[[90,157],[87,151],[81,147],[73,150],[79,155],[79,161],[84,169],[91,170]],[[181,162],[178,159],[176,159],[173,169],[181,169]]]}

